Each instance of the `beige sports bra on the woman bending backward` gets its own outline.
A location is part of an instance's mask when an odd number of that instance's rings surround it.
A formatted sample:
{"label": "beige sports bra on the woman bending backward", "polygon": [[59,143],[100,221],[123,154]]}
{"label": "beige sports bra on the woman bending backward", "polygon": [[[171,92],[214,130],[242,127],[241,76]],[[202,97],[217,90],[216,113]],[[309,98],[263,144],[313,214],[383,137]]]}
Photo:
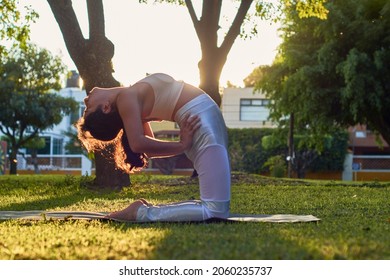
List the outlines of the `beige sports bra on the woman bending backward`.
{"label": "beige sports bra on the woman bending backward", "polygon": [[176,81],[163,73],[151,74],[137,83],[147,83],[154,91],[154,104],[148,119],[171,120],[173,110],[184,86],[183,81]]}

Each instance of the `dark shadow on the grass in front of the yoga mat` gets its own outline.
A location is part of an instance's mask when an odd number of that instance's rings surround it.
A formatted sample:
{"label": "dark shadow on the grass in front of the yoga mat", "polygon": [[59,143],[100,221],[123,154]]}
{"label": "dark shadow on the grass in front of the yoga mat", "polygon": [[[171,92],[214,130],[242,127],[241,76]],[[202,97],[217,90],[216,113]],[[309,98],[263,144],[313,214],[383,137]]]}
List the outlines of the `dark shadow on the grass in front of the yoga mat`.
{"label": "dark shadow on the grass in front of the yoga mat", "polygon": [[161,230],[150,260],[308,260],[327,259],[320,250],[286,238],[283,231],[317,223],[155,223],[111,224],[117,230]]}

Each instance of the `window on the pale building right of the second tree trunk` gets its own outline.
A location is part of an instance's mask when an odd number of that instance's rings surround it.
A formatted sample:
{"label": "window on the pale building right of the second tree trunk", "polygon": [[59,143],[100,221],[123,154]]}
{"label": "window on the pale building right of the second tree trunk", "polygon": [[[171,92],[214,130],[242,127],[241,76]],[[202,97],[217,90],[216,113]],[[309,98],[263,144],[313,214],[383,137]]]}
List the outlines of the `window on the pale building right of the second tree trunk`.
{"label": "window on the pale building right of the second tree trunk", "polygon": [[240,121],[266,121],[269,110],[268,99],[241,99]]}

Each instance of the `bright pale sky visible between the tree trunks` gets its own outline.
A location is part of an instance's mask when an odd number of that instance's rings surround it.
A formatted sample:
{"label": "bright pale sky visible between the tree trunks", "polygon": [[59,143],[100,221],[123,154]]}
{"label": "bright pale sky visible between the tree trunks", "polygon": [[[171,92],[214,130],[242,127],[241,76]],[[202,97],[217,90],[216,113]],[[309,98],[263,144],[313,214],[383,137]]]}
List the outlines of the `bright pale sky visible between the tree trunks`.
{"label": "bright pale sky visible between the tree trunks", "polygon": [[[88,37],[86,1],[73,0],[84,36]],[[198,16],[202,1],[194,0]],[[235,13],[231,1],[223,1],[223,27]],[[61,57],[68,70],[76,70],[62,34],[46,0],[20,0],[40,16],[31,26],[31,40]],[[200,44],[186,7],[170,4],[139,4],[138,0],[104,1],[106,36],[115,45],[114,77],[124,86],[134,84],[146,73],[163,72],[194,85],[199,84]],[[227,21],[226,18],[230,20]],[[278,26],[259,21],[258,35],[237,38],[226,62],[220,84],[243,86],[254,68],[271,64],[280,44]]]}

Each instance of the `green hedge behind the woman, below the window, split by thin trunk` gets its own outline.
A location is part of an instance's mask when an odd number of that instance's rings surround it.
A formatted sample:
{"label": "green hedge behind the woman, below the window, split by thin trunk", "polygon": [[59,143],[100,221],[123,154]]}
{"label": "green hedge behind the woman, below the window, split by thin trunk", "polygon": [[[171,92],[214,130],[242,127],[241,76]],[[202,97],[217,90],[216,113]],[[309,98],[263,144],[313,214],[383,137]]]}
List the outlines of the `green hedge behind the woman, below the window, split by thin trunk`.
{"label": "green hedge behind the woman, below the window, split by thin trunk", "polygon": [[[282,171],[284,173],[288,155],[287,134],[288,128],[228,129],[232,170],[259,173],[272,169],[272,172],[276,172],[273,176],[280,176]],[[321,150],[318,149],[319,140],[313,140],[310,130],[300,131],[294,138],[296,150],[291,167],[299,178],[304,178],[308,171],[344,169],[348,144],[346,131],[323,136],[320,139]]]}

